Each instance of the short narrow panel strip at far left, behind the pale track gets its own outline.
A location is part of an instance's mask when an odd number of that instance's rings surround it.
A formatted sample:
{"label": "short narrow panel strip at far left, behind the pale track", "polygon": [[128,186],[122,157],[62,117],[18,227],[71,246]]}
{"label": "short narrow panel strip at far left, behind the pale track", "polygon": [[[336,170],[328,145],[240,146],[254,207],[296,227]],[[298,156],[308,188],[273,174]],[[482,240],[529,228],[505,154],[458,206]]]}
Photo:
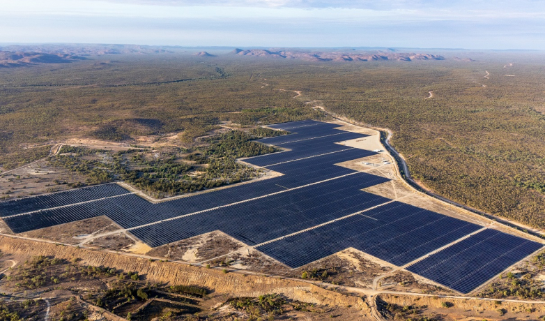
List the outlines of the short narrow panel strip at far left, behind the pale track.
{"label": "short narrow panel strip at far left, behind the pale track", "polygon": [[27,213],[29,211],[38,211],[40,209],[51,209],[52,207],[88,202],[90,200],[98,200],[102,197],[123,195],[127,193],[130,192],[117,184],[104,184],[59,193],[26,197],[20,200],[0,202],[0,216],[5,217]]}

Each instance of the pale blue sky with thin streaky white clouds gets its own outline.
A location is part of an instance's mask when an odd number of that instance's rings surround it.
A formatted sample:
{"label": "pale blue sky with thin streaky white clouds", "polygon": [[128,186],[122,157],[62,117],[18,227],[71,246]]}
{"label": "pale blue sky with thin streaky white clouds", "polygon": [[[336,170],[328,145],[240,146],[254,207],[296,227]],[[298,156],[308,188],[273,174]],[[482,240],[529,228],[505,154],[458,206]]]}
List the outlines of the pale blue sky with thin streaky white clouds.
{"label": "pale blue sky with thin streaky white clouds", "polygon": [[0,43],[545,50],[543,0],[0,0]]}

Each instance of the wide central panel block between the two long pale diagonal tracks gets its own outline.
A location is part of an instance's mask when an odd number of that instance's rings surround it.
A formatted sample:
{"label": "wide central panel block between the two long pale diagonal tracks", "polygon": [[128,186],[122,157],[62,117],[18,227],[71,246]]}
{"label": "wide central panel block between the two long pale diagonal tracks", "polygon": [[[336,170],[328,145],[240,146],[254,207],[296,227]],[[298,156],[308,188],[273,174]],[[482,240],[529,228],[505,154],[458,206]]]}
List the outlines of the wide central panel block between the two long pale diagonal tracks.
{"label": "wide central panel block between the two long pale diagonal tracks", "polygon": [[213,209],[198,215],[138,227],[132,234],[151,246],[222,230],[255,245],[383,204],[385,197],[360,188],[386,181],[365,173]]}

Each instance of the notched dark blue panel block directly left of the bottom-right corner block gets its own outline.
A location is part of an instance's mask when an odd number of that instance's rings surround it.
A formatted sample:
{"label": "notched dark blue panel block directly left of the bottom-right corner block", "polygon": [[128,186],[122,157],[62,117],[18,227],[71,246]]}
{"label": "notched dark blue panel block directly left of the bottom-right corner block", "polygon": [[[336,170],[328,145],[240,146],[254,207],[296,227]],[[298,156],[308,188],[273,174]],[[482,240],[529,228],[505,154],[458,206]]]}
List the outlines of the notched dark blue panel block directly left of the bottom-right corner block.
{"label": "notched dark blue panel block directly left of the bottom-right corner block", "polygon": [[300,267],[348,247],[402,266],[479,228],[473,223],[391,202],[257,249],[289,267]]}

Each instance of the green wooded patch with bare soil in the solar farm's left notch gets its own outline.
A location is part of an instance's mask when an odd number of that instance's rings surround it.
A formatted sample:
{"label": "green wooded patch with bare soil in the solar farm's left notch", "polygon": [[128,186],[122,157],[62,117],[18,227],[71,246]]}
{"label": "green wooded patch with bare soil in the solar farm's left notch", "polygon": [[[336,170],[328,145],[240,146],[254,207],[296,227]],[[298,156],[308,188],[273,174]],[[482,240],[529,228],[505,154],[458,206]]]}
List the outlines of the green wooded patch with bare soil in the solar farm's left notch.
{"label": "green wooded patch with bare soil in the solar farm's left notch", "polygon": [[63,146],[58,156],[49,159],[49,165],[65,167],[84,174],[85,182],[102,184],[120,180],[132,184],[154,197],[167,197],[203,191],[259,177],[260,170],[236,162],[237,158],[251,157],[277,151],[274,147],[252,142],[281,131],[230,130],[206,139],[197,149],[166,148],[160,150],[128,149],[116,153],[86,147]]}

